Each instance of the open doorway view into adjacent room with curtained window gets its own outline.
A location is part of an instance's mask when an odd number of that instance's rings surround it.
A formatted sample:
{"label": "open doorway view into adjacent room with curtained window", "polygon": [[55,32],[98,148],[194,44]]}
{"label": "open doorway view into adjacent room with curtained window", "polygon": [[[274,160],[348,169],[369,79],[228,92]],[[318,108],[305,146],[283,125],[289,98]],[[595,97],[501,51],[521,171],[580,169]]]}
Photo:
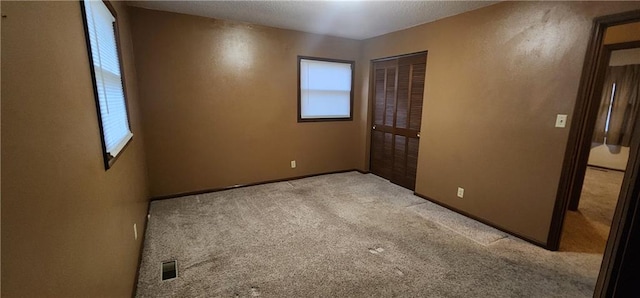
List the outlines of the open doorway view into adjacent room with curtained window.
{"label": "open doorway view into adjacent room with curtained window", "polygon": [[561,251],[604,253],[640,105],[640,47],[627,48],[632,46],[633,42],[605,45],[610,58],[582,189],[566,214]]}

